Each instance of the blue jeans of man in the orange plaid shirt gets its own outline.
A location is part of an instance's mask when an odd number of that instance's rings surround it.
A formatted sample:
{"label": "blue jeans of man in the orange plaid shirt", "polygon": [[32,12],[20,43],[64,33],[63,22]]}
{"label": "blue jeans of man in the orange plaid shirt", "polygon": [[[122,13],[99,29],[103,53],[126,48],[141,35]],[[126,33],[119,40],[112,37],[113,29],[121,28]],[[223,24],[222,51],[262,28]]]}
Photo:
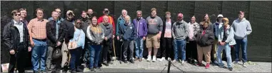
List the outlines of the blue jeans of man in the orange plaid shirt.
{"label": "blue jeans of man in the orange plaid shirt", "polygon": [[[31,63],[34,71],[38,71],[41,65],[41,70],[46,70],[46,41],[33,39],[34,47],[32,49]],[[41,62],[40,62],[41,61]]]}

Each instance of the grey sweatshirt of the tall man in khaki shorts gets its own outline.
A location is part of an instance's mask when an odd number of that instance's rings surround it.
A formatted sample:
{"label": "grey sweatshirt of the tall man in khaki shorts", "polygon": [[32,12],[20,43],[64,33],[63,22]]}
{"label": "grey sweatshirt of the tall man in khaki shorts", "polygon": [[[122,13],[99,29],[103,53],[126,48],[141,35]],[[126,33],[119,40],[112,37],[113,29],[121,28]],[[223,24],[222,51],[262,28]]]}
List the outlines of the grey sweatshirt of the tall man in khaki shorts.
{"label": "grey sweatshirt of the tall man in khaki shorts", "polygon": [[148,16],[146,18],[147,22],[147,28],[148,28],[148,34],[156,35],[159,33],[159,31],[163,30],[163,21],[160,17],[156,16],[155,18],[152,18],[151,16]]}

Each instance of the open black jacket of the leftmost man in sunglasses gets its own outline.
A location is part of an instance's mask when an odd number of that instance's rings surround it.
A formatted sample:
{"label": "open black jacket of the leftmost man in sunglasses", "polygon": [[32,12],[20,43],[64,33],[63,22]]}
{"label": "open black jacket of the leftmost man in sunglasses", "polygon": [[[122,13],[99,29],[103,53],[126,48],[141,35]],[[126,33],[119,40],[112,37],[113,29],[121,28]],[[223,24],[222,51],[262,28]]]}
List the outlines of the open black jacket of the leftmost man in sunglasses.
{"label": "open black jacket of the leftmost man in sunglasses", "polygon": [[[29,42],[29,30],[27,29],[26,24],[23,24],[23,30],[24,30],[24,48],[27,50],[27,47],[30,46]],[[3,41],[4,45],[6,45],[6,49],[8,50],[14,50],[17,51],[17,48],[19,47],[20,43],[20,33],[18,28],[14,26],[14,21],[11,20],[11,22],[7,23],[6,26],[4,26],[3,31]]]}

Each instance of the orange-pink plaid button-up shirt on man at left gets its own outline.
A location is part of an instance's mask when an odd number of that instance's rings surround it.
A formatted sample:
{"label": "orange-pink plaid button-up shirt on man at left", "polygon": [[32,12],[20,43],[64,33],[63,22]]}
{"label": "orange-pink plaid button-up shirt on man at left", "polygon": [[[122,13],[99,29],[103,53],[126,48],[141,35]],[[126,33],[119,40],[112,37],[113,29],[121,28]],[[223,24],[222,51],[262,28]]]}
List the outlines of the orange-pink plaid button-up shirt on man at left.
{"label": "orange-pink plaid button-up shirt on man at left", "polygon": [[46,23],[48,20],[43,19],[38,21],[38,18],[34,18],[29,21],[27,28],[31,30],[32,38],[44,40],[46,39]]}

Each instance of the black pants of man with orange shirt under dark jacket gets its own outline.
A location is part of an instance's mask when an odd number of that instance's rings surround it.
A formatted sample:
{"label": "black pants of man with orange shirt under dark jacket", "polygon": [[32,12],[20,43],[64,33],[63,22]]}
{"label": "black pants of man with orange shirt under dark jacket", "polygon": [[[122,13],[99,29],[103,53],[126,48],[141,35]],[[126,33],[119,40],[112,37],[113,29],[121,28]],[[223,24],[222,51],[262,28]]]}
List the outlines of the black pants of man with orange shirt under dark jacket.
{"label": "black pants of man with orange shirt under dark jacket", "polygon": [[108,62],[111,56],[111,46],[112,46],[112,39],[108,39],[107,41],[104,40],[103,42],[103,49],[102,49],[102,61]]}

